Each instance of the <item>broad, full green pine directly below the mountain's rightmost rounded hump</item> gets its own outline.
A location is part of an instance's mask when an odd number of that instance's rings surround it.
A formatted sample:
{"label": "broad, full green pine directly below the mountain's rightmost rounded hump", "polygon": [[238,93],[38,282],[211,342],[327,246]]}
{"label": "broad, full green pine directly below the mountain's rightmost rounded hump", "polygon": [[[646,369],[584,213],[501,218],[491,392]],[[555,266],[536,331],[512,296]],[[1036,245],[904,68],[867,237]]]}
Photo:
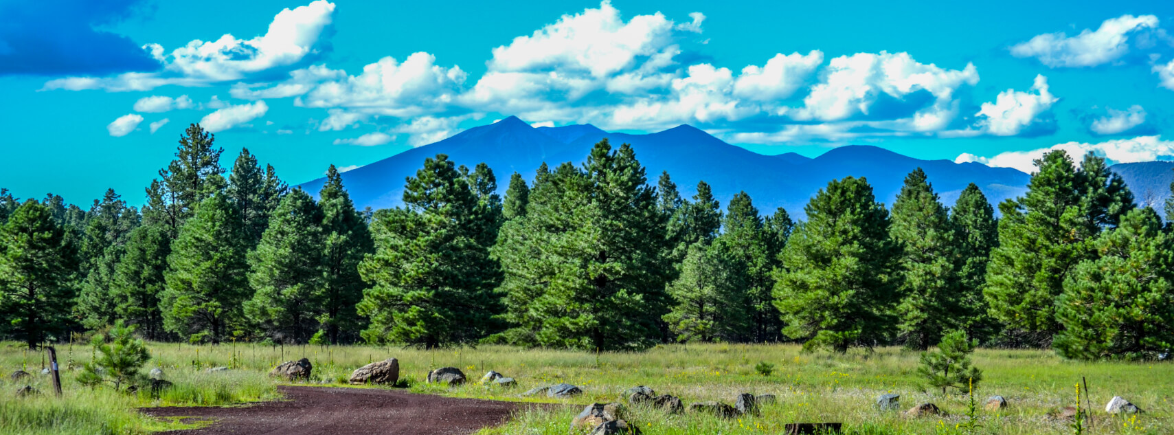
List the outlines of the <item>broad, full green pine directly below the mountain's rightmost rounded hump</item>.
{"label": "broad, full green pine directly below the mountain's rightmost rounded hump", "polygon": [[889,213],[865,179],[834,180],[804,208],[782,252],[775,307],[783,333],[805,349],[871,347],[888,340],[900,285],[900,247],[889,237]]}

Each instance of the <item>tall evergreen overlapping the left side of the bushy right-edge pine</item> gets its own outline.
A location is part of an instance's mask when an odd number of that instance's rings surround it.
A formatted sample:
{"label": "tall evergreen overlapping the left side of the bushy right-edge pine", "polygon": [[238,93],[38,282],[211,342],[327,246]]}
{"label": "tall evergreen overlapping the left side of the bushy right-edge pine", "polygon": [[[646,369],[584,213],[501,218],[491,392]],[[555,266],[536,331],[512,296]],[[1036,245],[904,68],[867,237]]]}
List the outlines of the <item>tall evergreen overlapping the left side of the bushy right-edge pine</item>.
{"label": "tall evergreen overlapping the left side of the bushy right-edge pine", "polygon": [[1008,328],[1045,337],[1059,332],[1055,299],[1064,279],[1094,256],[1088,242],[1133,207],[1133,195],[1104,163],[1088,155],[1078,170],[1066,152],[1047,153],[1035,161],[1027,194],[999,206],[999,247],[991,252],[984,294]]}

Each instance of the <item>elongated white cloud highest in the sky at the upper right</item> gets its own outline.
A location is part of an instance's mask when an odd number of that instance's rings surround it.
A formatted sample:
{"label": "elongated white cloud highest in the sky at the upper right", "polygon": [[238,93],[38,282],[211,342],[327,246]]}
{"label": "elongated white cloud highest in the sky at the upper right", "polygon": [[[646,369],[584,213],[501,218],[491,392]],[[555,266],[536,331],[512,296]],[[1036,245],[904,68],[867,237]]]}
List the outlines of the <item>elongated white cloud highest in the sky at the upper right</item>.
{"label": "elongated white cloud highest in the sky at the upper right", "polygon": [[1064,32],[1037,35],[1011,46],[1011,54],[1039,59],[1052,68],[1092,67],[1121,59],[1129,53],[1131,35],[1153,29],[1158,29],[1158,16],[1121,15],[1105,20],[1097,31],[1086,28],[1075,36]]}

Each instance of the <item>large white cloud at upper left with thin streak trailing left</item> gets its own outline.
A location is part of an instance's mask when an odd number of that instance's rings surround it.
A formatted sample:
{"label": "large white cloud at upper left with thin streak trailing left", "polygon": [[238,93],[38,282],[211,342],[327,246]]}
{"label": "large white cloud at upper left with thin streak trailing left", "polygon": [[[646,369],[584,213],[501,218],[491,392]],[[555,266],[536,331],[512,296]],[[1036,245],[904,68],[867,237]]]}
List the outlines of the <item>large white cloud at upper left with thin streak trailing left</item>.
{"label": "large white cloud at upper left with thin streak trailing left", "polygon": [[319,38],[331,25],[335,4],[316,0],[282,9],[264,35],[237,39],[224,34],[215,41],[193,40],[167,53],[158,44],[142,47],[163,66],[157,73],[126,73],[109,78],[50,80],[46,89],[149,91],[163,85],[204,86],[242,80],[252,74],[295,67],[319,53]]}

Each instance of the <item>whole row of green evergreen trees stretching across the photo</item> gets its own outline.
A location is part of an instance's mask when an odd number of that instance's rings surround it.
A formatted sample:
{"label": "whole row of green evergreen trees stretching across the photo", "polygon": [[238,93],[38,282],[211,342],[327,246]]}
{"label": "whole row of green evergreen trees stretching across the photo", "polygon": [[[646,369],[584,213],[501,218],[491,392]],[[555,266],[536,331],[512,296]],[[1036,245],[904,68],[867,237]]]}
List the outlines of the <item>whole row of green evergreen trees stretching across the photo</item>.
{"label": "whole row of green evergreen trees stretching across the photo", "polygon": [[795,222],[745,193],[723,210],[703,181],[690,199],[667,173],[652,186],[606,140],[580,166],[514,173],[505,198],[485,163],[439,154],[375,213],[333,167],[315,200],[248,150],[225,179],[220,154],[189,127],[141,210],[113,190],[88,212],[0,199],[4,334],[34,346],[123,320],[212,343],[844,352],[963,330],[1078,359],[1174,344],[1174,232],[1093,155],[1045,155],[998,220],[977,186],[950,208],[917,169],[891,210],[845,178]]}

